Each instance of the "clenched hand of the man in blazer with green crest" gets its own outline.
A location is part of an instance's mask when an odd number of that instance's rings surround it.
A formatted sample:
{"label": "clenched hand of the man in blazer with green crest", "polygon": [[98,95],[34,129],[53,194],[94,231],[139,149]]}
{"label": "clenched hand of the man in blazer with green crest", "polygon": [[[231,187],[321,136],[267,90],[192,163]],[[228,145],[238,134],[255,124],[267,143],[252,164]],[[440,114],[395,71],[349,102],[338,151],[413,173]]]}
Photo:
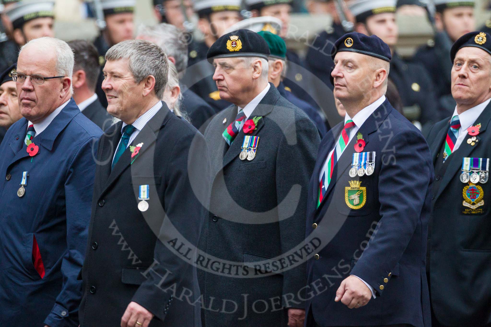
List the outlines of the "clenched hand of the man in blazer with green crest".
{"label": "clenched hand of the man in blazer with green crest", "polygon": [[359,308],[370,301],[372,292],[358,277],[348,276],[336,291],[335,302],[341,301],[350,309]]}

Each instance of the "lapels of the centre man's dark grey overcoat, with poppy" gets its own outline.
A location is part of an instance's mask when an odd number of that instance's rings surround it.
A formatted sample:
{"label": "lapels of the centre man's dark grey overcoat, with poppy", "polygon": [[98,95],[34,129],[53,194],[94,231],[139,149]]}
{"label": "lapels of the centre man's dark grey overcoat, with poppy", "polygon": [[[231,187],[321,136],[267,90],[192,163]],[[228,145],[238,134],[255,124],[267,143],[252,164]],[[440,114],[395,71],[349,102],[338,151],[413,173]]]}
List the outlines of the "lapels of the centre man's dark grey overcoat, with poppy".
{"label": "lapels of the centre man's dark grey overcoat, with poppy", "polygon": [[[265,123],[265,116],[267,116],[272,110],[273,106],[280,97],[280,94],[278,93],[278,90],[274,87],[273,84],[270,83],[270,89],[264,96],[264,98],[258,103],[256,108],[252,111],[251,115],[247,120],[252,119],[254,117],[263,117],[261,118],[258,123],[257,123],[257,129],[252,131],[252,133],[247,134],[247,135],[252,135],[255,136],[259,133],[259,131],[264,127]],[[237,110],[237,106],[235,106],[235,109]],[[237,112],[237,111],[236,111]],[[235,117],[234,117],[235,118]],[[244,140],[244,136],[246,134],[244,133],[244,127],[239,131],[239,134],[234,139],[234,142],[232,142],[232,145],[228,150],[226,151],[225,155],[223,156],[223,168],[228,165],[235,157],[237,157],[240,154],[240,150],[242,148],[242,141]],[[225,140],[223,140],[225,142]]]}

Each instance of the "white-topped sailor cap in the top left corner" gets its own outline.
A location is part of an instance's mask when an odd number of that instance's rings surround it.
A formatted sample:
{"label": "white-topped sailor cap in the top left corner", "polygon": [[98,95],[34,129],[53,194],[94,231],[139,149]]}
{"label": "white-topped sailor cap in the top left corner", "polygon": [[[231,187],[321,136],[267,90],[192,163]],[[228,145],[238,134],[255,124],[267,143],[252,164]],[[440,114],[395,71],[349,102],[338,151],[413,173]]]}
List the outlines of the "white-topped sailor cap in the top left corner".
{"label": "white-topped sailor cap in the top left corner", "polygon": [[19,1],[5,10],[14,28],[22,28],[24,23],[41,17],[55,17],[55,1]]}

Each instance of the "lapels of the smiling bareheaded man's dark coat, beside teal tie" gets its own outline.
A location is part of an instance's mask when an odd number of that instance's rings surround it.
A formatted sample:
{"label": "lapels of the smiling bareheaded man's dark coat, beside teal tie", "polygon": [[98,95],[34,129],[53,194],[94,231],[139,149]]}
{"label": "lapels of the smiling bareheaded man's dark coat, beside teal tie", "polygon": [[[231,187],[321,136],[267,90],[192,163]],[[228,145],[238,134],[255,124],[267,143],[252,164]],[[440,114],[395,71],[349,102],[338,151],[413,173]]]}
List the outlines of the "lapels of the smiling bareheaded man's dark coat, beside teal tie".
{"label": "lapels of the smiling bareheaded man's dark coat, beside teal tie", "polygon": [[[123,174],[126,168],[131,165],[132,161],[142,159],[141,156],[151,147],[153,143],[155,143],[159,130],[170,119],[171,115],[173,115],[172,112],[167,108],[166,104],[163,103],[162,108],[157,111],[155,116],[153,116],[145,126],[143,126],[135,140],[133,140],[131,143],[131,146],[136,146],[138,143],[143,143],[143,146],[139,150],[139,154],[132,158],[132,153],[130,151],[130,147],[128,146],[126,151],[124,151],[119,158],[118,162],[114,165],[114,168],[110,171],[106,186],[102,190],[102,193],[106,192],[106,190],[117,180],[117,178]],[[121,138],[121,126],[122,123],[117,124],[117,127],[119,127],[119,139]],[[114,147],[117,147],[119,139],[117,139],[117,142],[114,143]],[[112,151],[112,154],[114,154],[115,151],[116,149]],[[110,156],[108,164],[110,169],[110,166],[112,165],[112,156]]]}

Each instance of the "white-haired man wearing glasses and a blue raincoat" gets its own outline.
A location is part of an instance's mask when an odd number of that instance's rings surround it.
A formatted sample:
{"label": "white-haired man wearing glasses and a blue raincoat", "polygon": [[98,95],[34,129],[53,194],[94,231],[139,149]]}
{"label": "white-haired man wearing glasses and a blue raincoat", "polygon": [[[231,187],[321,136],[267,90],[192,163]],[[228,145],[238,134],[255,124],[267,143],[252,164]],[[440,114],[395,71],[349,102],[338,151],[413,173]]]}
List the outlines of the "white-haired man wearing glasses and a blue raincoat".
{"label": "white-haired man wearing glasses and a blue raincoat", "polygon": [[43,37],[22,47],[12,74],[23,118],[0,144],[0,326],[79,325],[102,131],[72,98],[73,66],[64,41]]}

